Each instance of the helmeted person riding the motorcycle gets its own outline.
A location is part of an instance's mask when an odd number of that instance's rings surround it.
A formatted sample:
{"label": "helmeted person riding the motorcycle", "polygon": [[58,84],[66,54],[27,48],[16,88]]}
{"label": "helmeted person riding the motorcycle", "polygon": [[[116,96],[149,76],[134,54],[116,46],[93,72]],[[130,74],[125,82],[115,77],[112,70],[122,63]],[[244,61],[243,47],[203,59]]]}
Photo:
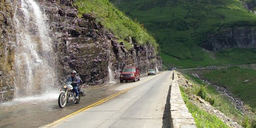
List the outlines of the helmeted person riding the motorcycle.
{"label": "helmeted person riding the motorcycle", "polygon": [[78,86],[80,86],[80,78],[76,76],[75,70],[71,71],[70,77],[67,79],[67,82],[72,82],[71,85],[73,86],[73,91],[76,93],[76,99],[78,99]]}

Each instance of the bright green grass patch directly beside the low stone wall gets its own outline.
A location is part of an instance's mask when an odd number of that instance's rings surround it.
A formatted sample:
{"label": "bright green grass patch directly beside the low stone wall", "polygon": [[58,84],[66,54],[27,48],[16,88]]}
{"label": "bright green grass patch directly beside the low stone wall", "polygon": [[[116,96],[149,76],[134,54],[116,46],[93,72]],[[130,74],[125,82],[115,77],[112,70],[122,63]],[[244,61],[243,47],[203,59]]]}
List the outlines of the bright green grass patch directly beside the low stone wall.
{"label": "bright green grass patch directly beside the low stone wall", "polygon": [[182,98],[188,108],[189,113],[191,113],[194,117],[197,127],[228,127],[216,115],[209,114],[200,109],[197,104],[190,102],[188,95],[184,92],[184,89],[180,89]]}

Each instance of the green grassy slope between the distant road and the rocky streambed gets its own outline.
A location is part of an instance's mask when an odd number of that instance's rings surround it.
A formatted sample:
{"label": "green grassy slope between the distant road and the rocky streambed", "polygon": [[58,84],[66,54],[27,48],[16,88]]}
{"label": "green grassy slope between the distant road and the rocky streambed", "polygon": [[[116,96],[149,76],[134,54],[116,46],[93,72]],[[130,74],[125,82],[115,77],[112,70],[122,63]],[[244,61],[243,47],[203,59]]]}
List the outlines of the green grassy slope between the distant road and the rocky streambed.
{"label": "green grassy slope between the distant road and the rocky streambed", "polygon": [[[241,98],[245,104],[256,111],[256,71],[239,67],[223,68],[220,70],[193,70],[204,79],[214,84],[224,86],[234,97]],[[249,80],[245,82],[246,80]]]}

